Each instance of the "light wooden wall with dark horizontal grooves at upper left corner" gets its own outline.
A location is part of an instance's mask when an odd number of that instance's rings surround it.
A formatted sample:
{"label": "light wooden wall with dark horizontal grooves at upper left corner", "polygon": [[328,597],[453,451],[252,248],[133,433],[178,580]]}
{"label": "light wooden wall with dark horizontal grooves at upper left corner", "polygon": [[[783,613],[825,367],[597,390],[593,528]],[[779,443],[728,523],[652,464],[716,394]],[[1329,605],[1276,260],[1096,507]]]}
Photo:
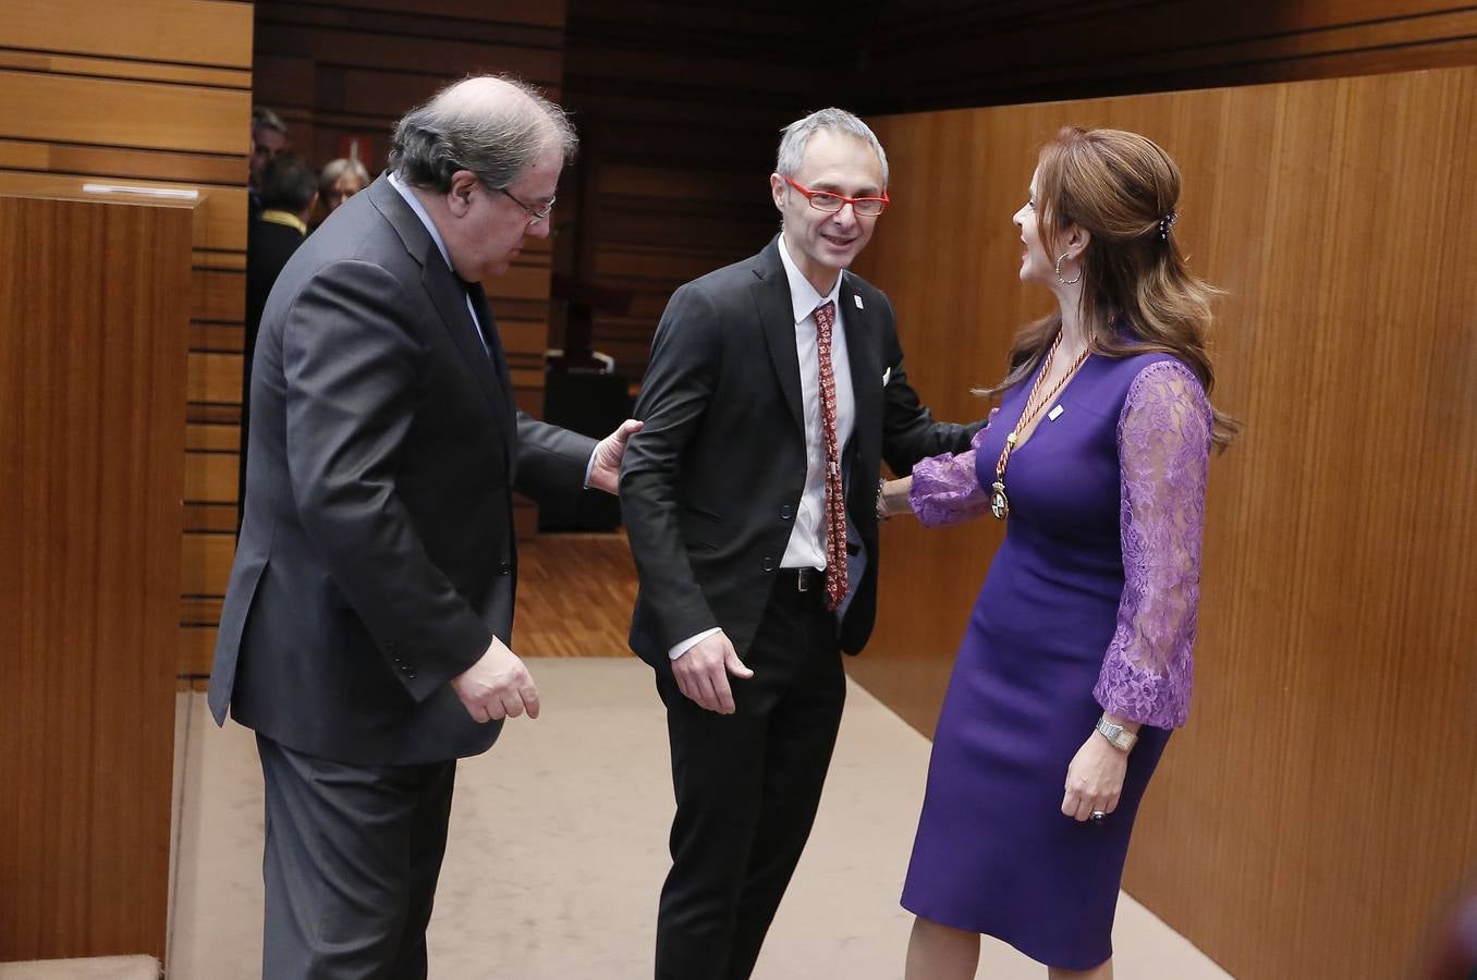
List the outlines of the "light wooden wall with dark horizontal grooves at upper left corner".
{"label": "light wooden wall with dark horizontal grooves at upper left corner", "polygon": [[[201,195],[188,412],[202,424],[239,416],[239,379],[204,351],[241,351],[251,16],[236,0],[18,0],[0,18],[0,192],[69,195],[93,182]],[[189,471],[202,452],[186,450]],[[235,456],[211,462],[235,472]],[[235,531],[198,506],[185,514],[185,546]],[[182,595],[204,587],[193,574]]]}

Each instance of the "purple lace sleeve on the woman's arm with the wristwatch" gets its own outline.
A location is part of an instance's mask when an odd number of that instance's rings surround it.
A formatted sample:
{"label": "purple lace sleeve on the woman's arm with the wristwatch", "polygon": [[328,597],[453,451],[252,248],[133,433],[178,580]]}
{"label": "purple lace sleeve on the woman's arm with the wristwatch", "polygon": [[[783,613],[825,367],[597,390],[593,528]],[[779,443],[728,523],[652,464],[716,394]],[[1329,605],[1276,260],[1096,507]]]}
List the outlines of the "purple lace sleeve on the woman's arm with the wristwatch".
{"label": "purple lace sleeve on the woman's arm with the wristwatch", "polygon": [[1189,719],[1211,413],[1199,381],[1161,360],[1118,419],[1123,599],[1093,697],[1155,728]]}

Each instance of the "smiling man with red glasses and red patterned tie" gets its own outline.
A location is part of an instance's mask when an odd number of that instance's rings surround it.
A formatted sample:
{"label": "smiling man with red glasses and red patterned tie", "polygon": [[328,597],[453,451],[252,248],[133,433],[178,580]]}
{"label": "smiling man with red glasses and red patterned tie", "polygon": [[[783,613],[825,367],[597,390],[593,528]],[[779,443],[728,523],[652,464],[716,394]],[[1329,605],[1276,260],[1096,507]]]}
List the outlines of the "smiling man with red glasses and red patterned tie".
{"label": "smiling man with red glasses and red patterned tie", "polygon": [[770,186],[780,236],[668,304],[620,475],[676,790],[662,980],[753,970],[830,765],[839,651],[871,632],[880,459],[907,472],[978,428],[919,404],[888,298],[843,272],[886,207],[871,130],[793,122]]}

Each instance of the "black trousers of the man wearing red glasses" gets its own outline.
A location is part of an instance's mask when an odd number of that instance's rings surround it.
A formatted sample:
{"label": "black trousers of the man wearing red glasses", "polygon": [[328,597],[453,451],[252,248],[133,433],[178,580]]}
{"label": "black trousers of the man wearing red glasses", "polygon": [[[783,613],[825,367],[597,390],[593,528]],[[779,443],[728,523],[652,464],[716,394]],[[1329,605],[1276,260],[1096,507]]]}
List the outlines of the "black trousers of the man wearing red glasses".
{"label": "black trousers of the man wearing red glasses", "polygon": [[753,971],[809,837],[846,700],[836,617],[823,595],[777,579],[744,657],[753,677],[730,677],[734,714],[703,710],[657,673],[676,790],[657,980]]}

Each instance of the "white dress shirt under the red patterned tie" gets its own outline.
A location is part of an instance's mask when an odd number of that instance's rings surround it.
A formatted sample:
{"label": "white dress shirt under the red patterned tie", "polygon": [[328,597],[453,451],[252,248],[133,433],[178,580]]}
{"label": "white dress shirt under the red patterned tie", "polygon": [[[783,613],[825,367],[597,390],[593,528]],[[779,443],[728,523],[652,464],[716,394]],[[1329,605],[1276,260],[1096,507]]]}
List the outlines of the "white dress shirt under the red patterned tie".
{"label": "white dress shirt under the red patterned tie", "polygon": [[[790,307],[795,314],[795,353],[801,360],[801,407],[805,413],[805,490],[795,511],[795,528],[780,559],[781,568],[826,567],[826,431],[821,424],[821,368],[815,338],[815,307],[830,301],[836,310],[832,326],[832,376],[836,381],[836,449],[845,452],[857,424],[857,400],[851,388],[851,362],[846,359],[846,320],[840,308],[840,273],[830,292],[821,295],[790,258],[784,235],[780,236],[780,263],[790,283]],[[690,636],[672,646],[668,655],[676,660],[719,627]]]}

